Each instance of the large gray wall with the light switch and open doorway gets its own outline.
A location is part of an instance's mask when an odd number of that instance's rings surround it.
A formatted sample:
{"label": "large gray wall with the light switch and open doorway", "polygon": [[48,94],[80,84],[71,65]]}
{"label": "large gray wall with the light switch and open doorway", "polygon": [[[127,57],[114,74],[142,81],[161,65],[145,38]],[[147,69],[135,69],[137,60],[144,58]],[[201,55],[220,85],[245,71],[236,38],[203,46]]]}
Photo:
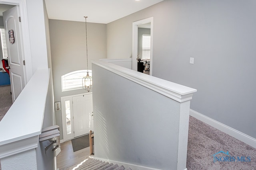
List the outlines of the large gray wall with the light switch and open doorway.
{"label": "large gray wall with the light switch and open doorway", "polygon": [[255,8],[254,0],[164,0],[108,23],[107,56],[129,57],[132,22],[153,16],[152,75],[197,89],[191,109],[256,138]]}

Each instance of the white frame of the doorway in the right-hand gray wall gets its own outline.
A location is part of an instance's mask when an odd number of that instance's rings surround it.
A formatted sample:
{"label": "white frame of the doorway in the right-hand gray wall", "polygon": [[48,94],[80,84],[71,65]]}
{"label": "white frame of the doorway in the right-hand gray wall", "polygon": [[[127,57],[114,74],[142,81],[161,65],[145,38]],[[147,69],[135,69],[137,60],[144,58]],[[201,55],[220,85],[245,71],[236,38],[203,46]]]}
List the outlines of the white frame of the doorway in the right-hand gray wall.
{"label": "white frame of the doorway in the right-hand gray wall", "polygon": [[138,26],[150,23],[150,70],[149,74],[152,76],[152,61],[153,61],[153,17],[144,20],[135,21],[132,23],[132,70],[137,71],[137,56],[138,56]]}

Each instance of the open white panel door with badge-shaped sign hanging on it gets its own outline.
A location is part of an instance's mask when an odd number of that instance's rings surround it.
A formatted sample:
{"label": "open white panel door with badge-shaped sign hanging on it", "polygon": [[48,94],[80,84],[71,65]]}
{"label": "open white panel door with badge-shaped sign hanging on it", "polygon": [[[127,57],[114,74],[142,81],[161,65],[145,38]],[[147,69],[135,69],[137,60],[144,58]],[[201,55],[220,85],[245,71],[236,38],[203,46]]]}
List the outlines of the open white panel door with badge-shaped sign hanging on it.
{"label": "open white panel door with badge-shaped sign hanging on it", "polygon": [[6,44],[8,49],[8,64],[10,67],[12,102],[16,100],[25,86],[19,15],[19,6],[15,6],[10,10],[3,12]]}

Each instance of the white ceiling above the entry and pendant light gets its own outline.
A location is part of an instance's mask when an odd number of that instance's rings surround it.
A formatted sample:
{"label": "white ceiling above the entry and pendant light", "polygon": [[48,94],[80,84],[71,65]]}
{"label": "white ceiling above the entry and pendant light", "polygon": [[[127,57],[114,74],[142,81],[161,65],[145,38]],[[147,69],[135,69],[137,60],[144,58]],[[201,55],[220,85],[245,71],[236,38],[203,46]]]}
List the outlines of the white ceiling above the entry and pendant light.
{"label": "white ceiling above the entry and pendant light", "polygon": [[49,19],[110,23],[163,0],[45,0]]}

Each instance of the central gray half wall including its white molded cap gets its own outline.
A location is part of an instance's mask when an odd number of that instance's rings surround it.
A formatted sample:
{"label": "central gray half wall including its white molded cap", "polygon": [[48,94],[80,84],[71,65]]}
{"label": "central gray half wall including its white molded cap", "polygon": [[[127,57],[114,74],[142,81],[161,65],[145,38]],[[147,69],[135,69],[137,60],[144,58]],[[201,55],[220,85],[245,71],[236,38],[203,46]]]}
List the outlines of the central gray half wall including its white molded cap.
{"label": "central gray half wall including its white molded cap", "polygon": [[94,156],[138,170],[185,170],[196,89],[92,61]]}

